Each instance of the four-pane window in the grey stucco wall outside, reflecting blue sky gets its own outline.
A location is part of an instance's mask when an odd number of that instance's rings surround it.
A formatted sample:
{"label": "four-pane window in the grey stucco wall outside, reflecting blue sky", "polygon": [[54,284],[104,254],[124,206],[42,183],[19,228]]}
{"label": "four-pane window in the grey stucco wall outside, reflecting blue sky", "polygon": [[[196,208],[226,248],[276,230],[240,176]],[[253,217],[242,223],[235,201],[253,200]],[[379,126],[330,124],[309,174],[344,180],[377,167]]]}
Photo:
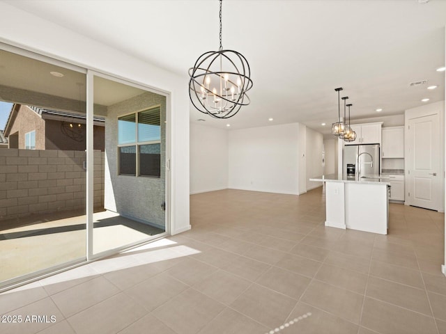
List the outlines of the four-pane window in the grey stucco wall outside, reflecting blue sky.
{"label": "four-pane window in the grey stucco wall outside, reflecting blue sky", "polygon": [[161,176],[160,107],[118,118],[119,174]]}

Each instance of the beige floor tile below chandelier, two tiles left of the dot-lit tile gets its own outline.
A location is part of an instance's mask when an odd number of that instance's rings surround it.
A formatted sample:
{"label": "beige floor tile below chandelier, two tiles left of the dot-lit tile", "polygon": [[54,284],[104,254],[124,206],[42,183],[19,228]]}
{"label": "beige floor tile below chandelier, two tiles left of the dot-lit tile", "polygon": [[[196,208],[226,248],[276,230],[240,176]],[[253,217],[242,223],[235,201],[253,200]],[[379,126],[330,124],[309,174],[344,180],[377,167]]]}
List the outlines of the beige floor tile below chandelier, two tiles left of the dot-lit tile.
{"label": "beige floor tile below chandelier, two tiles left of the dot-lit tile", "polygon": [[201,282],[193,285],[202,294],[206,294],[220,303],[229,305],[237,299],[252,283],[224,270],[215,271]]}

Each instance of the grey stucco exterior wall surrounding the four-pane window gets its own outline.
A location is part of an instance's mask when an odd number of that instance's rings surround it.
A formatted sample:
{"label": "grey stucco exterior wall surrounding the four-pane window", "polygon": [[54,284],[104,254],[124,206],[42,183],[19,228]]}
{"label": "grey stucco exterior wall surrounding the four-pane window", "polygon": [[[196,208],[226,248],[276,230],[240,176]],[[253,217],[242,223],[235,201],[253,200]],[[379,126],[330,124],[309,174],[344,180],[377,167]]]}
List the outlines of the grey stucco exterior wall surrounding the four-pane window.
{"label": "grey stucco exterior wall surrounding the four-pane window", "polygon": [[[161,177],[118,175],[118,117],[160,105]],[[105,209],[150,225],[165,226],[166,97],[144,93],[108,107],[105,118]]]}

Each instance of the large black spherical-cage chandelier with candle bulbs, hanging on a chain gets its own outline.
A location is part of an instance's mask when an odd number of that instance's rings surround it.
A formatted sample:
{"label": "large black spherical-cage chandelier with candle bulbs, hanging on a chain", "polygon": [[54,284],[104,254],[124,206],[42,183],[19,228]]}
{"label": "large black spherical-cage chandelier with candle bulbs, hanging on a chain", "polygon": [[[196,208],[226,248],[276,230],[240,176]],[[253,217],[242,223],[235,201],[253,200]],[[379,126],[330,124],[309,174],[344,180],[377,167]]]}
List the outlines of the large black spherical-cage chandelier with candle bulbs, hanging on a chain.
{"label": "large black spherical-cage chandelier with candle bulbs, hanging on a chain", "polygon": [[222,47],[222,0],[220,0],[220,48],[199,56],[189,69],[189,97],[201,113],[214,118],[230,118],[250,102],[252,88],[246,58]]}

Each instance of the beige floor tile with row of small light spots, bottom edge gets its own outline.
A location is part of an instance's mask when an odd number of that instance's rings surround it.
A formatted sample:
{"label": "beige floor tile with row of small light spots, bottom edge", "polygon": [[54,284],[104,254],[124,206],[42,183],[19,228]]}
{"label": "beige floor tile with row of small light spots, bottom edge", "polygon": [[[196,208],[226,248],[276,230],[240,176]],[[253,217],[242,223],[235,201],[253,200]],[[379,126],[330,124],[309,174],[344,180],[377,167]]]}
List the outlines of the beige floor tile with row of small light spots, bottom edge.
{"label": "beige floor tile with row of small light spots, bottom edge", "polygon": [[284,325],[283,329],[279,326],[280,334],[357,334],[358,328],[349,321],[302,302],[296,305]]}

